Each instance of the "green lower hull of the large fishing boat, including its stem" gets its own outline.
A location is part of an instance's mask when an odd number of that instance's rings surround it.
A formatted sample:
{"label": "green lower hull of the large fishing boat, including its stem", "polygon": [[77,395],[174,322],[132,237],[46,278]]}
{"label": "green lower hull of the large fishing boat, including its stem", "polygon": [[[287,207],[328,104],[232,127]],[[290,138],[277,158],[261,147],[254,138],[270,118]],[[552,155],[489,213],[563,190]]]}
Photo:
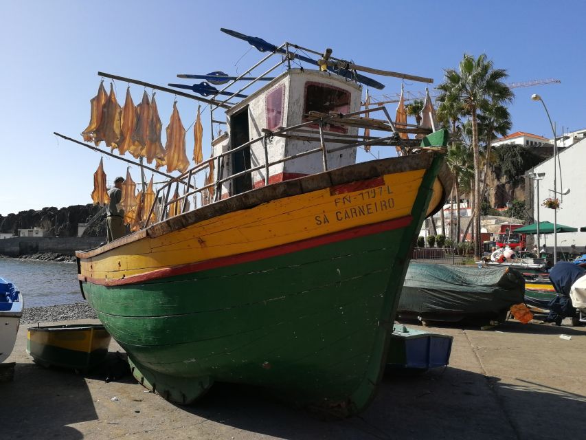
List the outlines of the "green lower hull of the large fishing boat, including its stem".
{"label": "green lower hull of the large fishing boat, including its stem", "polygon": [[141,284],[86,282],[84,296],[137,380],[170,401],[234,382],[354,414],[384,371],[407,255],[441,164],[427,171],[406,227]]}

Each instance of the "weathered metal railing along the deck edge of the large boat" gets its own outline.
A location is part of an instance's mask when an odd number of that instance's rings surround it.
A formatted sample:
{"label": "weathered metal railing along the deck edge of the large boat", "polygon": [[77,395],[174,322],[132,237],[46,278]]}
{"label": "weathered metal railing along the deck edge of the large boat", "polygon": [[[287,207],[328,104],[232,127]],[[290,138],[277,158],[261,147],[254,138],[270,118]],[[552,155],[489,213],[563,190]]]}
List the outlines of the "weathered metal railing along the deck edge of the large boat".
{"label": "weathered metal railing along the deck edge of the large boat", "polygon": [[[385,120],[374,120],[372,118],[355,118],[363,115],[364,113],[375,113],[382,112],[385,115]],[[389,111],[384,106],[376,107],[374,109],[363,109],[359,111],[353,111],[350,113],[317,113],[310,112],[305,115],[308,119],[306,122],[296,124],[290,127],[280,127],[275,131],[262,129],[262,135],[256,137],[253,140],[245,142],[236,148],[232,148],[229,151],[219,153],[210,159],[207,159],[200,164],[190,168],[181,175],[174,177],[167,181],[163,186],[157,189],[155,194],[155,202],[150,206],[148,215],[146,216],[146,222],[143,228],[148,227],[151,219],[156,217],[156,221],[164,221],[168,217],[174,217],[183,212],[197,209],[197,194],[201,194],[201,206],[208,203],[212,203],[221,199],[221,190],[223,184],[233,181],[238,177],[245,175],[251,175],[259,170],[264,169],[264,185],[269,185],[269,168],[274,165],[282,164],[290,160],[298,159],[306,155],[312,155],[321,153],[322,155],[322,168],[324,171],[330,169],[328,167],[328,153],[335,153],[338,151],[348,150],[350,148],[357,148],[359,146],[395,146],[399,154],[414,153],[418,151],[418,145],[420,140],[418,139],[401,139],[400,132],[409,133],[429,133],[429,129],[422,129],[421,127],[414,126],[412,124],[395,124],[390,117]],[[387,131],[390,135],[387,136],[364,136],[364,135],[346,135],[341,133],[330,133],[327,135],[324,132],[324,126],[328,123],[335,122],[335,124],[342,124],[346,126],[368,128],[371,130]],[[308,126],[315,126],[317,129],[308,129]],[[401,125],[401,126],[398,126]],[[398,126],[398,127],[397,127]],[[269,146],[272,142],[273,137],[289,137],[295,140],[303,140],[306,142],[319,142],[317,148],[311,148],[301,153],[282,157],[269,162]],[[231,174],[227,177],[222,177],[223,170],[222,164],[223,159],[226,156],[238,153],[244,148],[260,142],[264,150],[264,164],[253,166],[246,170],[240,171],[239,173]],[[327,144],[336,144],[328,148]],[[341,145],[340,145],[341,144]],[[432,147],[433,148],[433,147]],[[214,164],[213,168],[210,166]],[[215,176],[210,177],[208,175],[208,181],[203,186],[196,186],[196,175],[205,170],[215,170]],[[172,187],[175,186],[175,192],[171,197]],[[179,186],[183,186],[183,194],[179,194]],[[207,197],[204,197],[207,195]],[[213,200],[212,197],[213,195]],[[188,204],[188,198],[194,196],[194,206],[191,207]],[[171,198],[170,198],[171,197]],[[157,207],[157,204],[159,205]],[[200,206],[200,207],[201,207]],[[153,216],[155,212],[158,212],[157,216]]]}

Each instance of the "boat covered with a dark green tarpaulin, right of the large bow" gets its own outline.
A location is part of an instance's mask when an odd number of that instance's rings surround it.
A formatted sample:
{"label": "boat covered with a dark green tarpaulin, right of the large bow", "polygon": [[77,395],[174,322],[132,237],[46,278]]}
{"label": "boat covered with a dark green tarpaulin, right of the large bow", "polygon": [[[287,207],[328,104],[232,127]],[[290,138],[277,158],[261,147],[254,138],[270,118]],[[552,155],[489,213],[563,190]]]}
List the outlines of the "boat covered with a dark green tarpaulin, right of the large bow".
{"label": "boat covered with a dark green tarpaulin, right of the large bow", "polygon": [[523,303],[525,280],[508,267],[466,267],[411,263],[401,289],[400,316],[457,322],[503,319]]}

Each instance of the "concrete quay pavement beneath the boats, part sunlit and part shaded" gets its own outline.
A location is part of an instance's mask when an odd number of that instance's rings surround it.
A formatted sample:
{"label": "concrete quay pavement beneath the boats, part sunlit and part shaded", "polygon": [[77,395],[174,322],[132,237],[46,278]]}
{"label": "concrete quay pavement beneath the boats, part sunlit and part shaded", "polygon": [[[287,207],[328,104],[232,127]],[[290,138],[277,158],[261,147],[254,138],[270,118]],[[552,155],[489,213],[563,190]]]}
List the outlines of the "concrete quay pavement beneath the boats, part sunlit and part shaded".
{"label": "concrete quay pavement beneath the boats, part sunlit and part shaded", "polygon": [[[14,438],[51,432],[98,440],[583,437],[577,421],[586,403],[586,327],[507,322],[488,331],[426,331],[453,336],[447,369],[417,377],[387,373],[361,417],[324,422],[245,386],[216,384],[201,403],[182,407],[147,393],[131,376],[106,384],[98,373],[43,369],[25,352],[23,326],[8,359],[16,362],[14,382],[0,387],[3,430]],[[111,355],[116,350],[113,341]],[[564,417],[539,416],[545,413]]]}

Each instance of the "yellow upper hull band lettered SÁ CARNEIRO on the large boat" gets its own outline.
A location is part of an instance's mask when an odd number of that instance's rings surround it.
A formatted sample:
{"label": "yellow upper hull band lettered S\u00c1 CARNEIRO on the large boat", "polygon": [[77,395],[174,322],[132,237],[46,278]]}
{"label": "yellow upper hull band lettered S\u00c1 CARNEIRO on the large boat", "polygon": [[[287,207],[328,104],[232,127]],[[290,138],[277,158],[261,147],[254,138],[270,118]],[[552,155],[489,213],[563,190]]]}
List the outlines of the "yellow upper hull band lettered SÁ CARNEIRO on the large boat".
{"label": "yellow upper hull band lettered S\u00c1 CARNEIRO on the large boat", "polygon": [[[342,194],[326,188],[276,199],[155,238],[146,236],[82,259],[81,275],[117,279],[405,217],[412,214],[424,173],[425,170],[412,170],[385,175],[382,186]],[[434,190],[433,199],[440,199],[439,181]]]}

